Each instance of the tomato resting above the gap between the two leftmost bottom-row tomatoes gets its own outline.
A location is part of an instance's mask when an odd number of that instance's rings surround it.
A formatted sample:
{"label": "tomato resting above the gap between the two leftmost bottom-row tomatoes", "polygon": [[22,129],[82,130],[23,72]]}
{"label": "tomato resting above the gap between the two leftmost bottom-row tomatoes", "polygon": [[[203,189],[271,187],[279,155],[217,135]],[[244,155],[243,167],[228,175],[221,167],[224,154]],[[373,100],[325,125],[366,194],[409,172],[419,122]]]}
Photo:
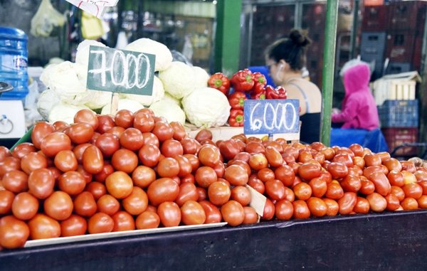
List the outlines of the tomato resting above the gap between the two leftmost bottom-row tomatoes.
{"label": "tomato resting above the gap between the two leftmost bottom-row tomatoes", "polygon": [[38,199],[31,193],[23,192],[15,196],[12,203],[12,213],[20,220],[29,220],[36,216]]}

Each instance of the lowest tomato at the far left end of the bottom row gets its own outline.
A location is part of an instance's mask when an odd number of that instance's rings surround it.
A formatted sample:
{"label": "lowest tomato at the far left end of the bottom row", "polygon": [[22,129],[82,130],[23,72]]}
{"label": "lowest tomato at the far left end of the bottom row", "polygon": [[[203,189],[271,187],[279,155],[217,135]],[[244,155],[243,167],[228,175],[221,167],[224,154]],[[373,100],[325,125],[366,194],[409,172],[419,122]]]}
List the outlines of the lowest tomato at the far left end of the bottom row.
{"label": "lowest tomato at the far left end of the bottom row", "polygon": [[30,230],[28,225],[14,216],[0,218],[0,245],[4,248],[22,248]]}

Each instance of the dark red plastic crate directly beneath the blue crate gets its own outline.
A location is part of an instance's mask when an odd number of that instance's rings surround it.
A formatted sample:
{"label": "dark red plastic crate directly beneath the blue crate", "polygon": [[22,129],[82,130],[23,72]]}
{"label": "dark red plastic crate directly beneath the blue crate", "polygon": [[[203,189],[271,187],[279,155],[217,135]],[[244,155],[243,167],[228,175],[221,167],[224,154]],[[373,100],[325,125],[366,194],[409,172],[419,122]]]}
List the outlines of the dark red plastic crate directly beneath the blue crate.
{"label": "dark red plastic crate directly beneath the blue crate", "polygon": [[[387,145],[389,146],[389,152],[393,152],[396,147],[401,146],[405,143],[416,143],[418,142],[418,128],[383,128],[381,131],[384,134]],[[417,147],[403,147],[399,149],[395,156],[416,156]]]}

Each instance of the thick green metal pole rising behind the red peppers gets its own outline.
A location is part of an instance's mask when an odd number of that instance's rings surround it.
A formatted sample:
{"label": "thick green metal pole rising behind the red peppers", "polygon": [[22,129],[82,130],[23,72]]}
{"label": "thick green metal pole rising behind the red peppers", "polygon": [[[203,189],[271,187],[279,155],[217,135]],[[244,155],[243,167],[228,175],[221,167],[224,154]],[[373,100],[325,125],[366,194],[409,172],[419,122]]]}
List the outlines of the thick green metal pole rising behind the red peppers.
{"label": "thick green metal pole rising behind the red peppers", "polygon": [[238,70],[242,0],[216,3],[215,72],[233,75]]}

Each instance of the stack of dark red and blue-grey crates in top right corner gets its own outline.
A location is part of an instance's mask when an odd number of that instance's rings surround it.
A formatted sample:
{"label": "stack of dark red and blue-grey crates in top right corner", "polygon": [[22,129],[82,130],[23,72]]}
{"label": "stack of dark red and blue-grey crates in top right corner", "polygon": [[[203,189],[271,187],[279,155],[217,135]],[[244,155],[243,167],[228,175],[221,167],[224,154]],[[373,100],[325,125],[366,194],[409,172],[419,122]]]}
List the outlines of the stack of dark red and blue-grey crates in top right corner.
{"label": "stack of dark red and blue-grey crates in top right corner", "polygon": [[421,69],[426,9],[426,1],[365,6],[360,53],[362,60],[375,63],[374,79]]}

